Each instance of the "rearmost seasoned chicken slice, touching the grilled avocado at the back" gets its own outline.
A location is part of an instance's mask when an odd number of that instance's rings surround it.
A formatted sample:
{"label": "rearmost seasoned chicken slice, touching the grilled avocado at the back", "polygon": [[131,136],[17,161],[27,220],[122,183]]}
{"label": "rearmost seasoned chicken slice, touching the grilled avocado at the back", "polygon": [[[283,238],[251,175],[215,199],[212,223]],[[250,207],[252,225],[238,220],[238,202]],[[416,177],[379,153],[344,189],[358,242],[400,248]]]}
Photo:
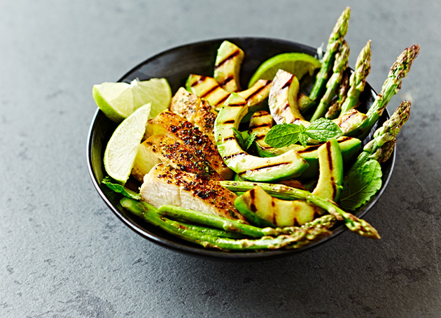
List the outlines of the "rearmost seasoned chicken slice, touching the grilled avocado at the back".
{"label": "rearmost seasoned chicken slice, touching the grilled avocado at the back", "polygon": [[181,87],[172,98],[170,110],[194,124],[214,142],[214,121],[218,114],[208,101]]}

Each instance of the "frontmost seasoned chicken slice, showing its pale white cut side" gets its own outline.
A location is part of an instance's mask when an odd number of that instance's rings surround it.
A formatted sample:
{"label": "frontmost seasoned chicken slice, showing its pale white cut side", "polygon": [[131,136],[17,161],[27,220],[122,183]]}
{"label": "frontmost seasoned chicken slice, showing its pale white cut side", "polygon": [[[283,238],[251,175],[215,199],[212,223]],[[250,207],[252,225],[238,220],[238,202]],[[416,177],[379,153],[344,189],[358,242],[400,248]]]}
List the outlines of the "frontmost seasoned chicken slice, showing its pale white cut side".
{"label": "frontmost seasoned chicken slice, showing its pale white cut side", "polygon": [[245,218],[236,210],[237,198],[214,180],[186,173],[172,166],[157,164],[144,177],[141,200],[159,208],[169,204],[228,219]]}

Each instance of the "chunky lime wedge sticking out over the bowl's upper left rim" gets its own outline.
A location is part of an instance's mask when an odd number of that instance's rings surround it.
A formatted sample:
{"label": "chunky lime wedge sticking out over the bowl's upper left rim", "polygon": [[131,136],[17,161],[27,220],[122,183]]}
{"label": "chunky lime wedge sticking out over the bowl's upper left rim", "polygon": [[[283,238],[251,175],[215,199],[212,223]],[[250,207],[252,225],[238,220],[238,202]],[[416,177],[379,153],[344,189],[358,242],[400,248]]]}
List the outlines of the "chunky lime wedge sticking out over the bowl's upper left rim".
{"label": "chunky lime wedge sticking out over the bowl's upper left rim", "polygon": [[122,122],[146,103],[151,103],[151,118],[169,108],[172,89],[165,78],[104,82],[93,85],[92,95],[99,109],[113,122]]}

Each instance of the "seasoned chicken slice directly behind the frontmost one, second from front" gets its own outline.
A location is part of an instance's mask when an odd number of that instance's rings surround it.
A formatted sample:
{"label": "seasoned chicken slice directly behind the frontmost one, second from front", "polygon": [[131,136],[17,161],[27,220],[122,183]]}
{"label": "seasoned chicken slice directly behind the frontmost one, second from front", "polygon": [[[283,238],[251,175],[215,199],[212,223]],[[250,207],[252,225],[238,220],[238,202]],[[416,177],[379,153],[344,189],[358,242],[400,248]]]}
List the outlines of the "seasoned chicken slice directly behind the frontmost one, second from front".
{"label": "seasoned chicken slice directly behind the frontmost one, second from front", "polygon": [[139,145],[132,175],[143,182],[144,175],[160,163],[212,180],[223,180],[207,161],[196,157],[181,141],[165,135],[151,136]]}

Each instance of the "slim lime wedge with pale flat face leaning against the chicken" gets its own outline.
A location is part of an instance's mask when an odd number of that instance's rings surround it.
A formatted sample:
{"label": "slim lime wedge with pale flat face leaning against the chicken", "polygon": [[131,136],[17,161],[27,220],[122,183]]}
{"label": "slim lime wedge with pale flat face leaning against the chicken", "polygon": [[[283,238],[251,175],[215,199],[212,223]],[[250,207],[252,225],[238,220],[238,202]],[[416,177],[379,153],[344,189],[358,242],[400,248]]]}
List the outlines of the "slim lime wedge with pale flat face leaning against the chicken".
{"label": "slim lime wedge with pale flat face leaning against the chicken", "polygon": [[146,131],[151,103],[141,106],[116,127],[104,151],[104,168],[123,185],[132,172],[138,146]]}

